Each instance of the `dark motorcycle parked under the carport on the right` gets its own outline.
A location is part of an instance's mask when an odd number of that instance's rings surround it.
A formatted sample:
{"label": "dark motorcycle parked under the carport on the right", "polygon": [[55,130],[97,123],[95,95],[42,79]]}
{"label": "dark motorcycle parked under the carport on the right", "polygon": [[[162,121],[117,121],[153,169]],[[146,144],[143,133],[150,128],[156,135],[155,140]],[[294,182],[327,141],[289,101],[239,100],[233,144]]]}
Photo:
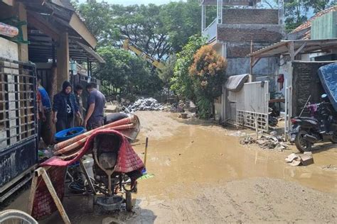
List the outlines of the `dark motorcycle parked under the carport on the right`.
{"label": "dark motorcycle parked under the carport on the right", "polygon": [[290,142],[294,142],[300,152],[311,151],[316,142],[337,143],[336,112],[328,102],[326,94],[321,98],[321,103],[306,106],[311,111],[311,117],[291,118]]}

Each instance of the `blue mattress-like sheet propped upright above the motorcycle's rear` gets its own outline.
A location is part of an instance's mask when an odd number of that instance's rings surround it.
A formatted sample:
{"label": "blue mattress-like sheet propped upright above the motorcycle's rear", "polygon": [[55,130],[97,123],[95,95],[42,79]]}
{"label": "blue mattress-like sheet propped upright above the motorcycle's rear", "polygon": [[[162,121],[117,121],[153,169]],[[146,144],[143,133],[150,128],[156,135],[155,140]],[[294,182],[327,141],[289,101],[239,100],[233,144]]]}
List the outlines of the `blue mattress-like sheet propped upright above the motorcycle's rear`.
{"label": "blue mattress-like sheet propped upright above the motorcycle's rear", "polygon": [[320,67],[319,79],[333,108],[337,111],[337,63]]}

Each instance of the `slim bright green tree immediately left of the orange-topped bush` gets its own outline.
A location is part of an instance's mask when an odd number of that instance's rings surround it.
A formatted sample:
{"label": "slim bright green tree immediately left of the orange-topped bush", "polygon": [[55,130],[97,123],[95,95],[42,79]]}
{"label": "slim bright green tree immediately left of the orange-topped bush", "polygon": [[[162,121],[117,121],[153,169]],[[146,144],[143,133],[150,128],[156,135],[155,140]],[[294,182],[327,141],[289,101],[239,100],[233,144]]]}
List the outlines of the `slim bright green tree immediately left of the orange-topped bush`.
{"label": "slim bright green tree immediately left of the orange-topped bush", "polygon": [[193,80],[188,74],[188,70],[193,63],[193,55],[206,44],[205,38],[191,36],[188,43],[183,46],[183,50],[177,54],[176,65],[174,66],[173,77],[171,78],[171,90],[178,96],[195,100],[196,95],[193,90]]}

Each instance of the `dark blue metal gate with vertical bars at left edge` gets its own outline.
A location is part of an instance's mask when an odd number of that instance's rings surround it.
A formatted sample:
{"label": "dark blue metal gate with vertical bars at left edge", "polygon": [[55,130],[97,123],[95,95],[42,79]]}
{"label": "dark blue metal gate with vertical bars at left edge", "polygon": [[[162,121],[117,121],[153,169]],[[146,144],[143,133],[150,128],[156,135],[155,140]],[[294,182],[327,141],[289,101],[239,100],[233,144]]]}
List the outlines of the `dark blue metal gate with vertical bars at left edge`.
{"label": "dark blue metal gate with vertical bars at left edge", "polygon": [[35,66],[0,57],[0,202],[37,163],[36,108]]}

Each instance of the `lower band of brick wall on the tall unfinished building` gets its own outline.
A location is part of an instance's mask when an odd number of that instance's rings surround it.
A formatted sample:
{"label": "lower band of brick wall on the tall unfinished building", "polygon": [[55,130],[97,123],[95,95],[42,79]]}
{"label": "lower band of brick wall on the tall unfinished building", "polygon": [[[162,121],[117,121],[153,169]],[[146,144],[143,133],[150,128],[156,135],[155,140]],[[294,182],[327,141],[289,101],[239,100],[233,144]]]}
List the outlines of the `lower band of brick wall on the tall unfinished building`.
{"label": "lower band of brick wall on the tall unfinished building", "polygon": [[281,26],[219,25],[218,40],[226,42],[248,41],[277,43],[282,40]]}

